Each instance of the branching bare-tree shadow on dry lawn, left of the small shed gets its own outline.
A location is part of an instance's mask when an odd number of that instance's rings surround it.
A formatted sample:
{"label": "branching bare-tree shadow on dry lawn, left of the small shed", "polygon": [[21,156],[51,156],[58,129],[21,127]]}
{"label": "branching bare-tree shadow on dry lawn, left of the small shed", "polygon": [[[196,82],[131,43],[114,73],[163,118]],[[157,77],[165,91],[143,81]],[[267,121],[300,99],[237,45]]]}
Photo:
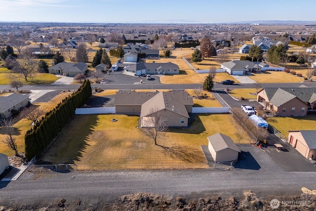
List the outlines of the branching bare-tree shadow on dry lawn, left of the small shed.
{"label": "branching bare-tree shadow on dry lawn, left of the small shed", "polygon": [[164,153],[171,158],[180,159],[181,161],[190,163],[203,163],[205,162],[204,154],[201,151],[188,147],[188,146],[172,146],[165,147],[158,144],[159,147],[164,149]]}

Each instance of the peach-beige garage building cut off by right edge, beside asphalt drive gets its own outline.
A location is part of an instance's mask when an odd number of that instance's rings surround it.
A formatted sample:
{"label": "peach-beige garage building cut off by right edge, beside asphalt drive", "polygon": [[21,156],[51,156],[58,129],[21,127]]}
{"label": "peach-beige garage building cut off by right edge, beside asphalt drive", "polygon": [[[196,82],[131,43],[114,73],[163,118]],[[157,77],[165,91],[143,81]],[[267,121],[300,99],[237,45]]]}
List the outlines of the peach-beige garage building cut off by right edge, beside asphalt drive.
{"label": "peach-beige garage building cut off by right edge, beside asphalt drive", "polygon": [[287,142],[307,159],[316,158],[316,130],[289,131]]}

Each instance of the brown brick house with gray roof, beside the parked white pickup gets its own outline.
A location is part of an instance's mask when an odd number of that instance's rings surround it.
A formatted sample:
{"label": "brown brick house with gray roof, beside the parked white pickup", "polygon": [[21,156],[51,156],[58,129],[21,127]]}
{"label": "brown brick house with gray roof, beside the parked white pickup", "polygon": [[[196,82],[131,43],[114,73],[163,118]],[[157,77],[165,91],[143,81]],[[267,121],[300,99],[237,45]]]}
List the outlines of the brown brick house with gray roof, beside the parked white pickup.
{"label": "brown brick house with gray roof, beside the parked white pickup", "polygon": [[270,104],[278,116],[306,116],[308,110],[316,110],[316,87],[265,87],[257,101]]}

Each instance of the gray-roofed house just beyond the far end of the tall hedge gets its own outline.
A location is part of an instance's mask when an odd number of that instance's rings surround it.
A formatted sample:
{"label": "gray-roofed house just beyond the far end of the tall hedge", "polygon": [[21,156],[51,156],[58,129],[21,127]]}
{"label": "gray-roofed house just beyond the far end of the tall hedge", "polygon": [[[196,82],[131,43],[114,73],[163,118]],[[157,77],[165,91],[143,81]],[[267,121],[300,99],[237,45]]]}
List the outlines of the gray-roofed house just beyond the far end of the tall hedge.
{"label": "gray-roofed house just beyond the far end of the tall hedge", "polygon": [[88,65],[83,62],[68,63],[65,61],[48,68],[48,72],[51,74],[64,75],[69,77],[75,77],[79,73],[85,74],[87,70]]}

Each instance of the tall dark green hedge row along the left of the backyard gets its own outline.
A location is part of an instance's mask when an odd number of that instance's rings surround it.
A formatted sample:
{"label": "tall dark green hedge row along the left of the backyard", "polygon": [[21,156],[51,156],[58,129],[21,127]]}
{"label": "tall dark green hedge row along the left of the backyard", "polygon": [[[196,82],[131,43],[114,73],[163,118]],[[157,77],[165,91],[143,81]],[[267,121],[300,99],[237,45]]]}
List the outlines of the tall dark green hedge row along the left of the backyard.
{"label": "tall dark green hedge row along the left of the backyard", "polygon": [[76,92],[63,99],[26,132],[24,137],[25,155],[28,160],[42,154],[63,127],[75,116],[76,108],[84,104],[91,93],[90,81],[84,80]]}

